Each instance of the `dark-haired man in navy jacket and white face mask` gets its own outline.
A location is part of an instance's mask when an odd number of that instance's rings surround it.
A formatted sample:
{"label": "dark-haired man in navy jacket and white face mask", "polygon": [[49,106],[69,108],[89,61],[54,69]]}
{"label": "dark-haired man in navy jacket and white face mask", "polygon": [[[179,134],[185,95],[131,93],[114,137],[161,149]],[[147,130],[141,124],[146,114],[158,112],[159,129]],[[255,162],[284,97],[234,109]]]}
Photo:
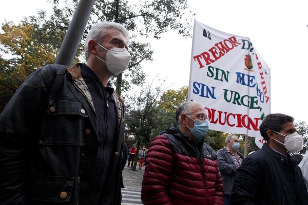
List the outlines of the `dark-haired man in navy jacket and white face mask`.
{"label": "dark-haired man in navy jacket and white face mask", "polygon": [[234,204],[308,204],[302,172],[288,154],[303,148],[293,121],[285,114],[265,117],[260,133],[267,143],[248,155],[239,167],[231,196]]}

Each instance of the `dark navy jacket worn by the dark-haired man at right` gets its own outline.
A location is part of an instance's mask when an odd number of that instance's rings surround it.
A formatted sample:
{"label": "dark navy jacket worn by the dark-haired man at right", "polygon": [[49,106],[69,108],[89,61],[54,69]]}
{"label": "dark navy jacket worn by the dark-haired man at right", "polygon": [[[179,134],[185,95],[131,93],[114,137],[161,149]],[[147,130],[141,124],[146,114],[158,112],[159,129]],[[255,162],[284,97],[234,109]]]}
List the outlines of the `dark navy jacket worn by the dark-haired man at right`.
{"label": "dark navy jacket worn by the dark-haired man at right", "polygon": [[308,194],[296,160],[263,144],[248,155],[235,176],[233,204],[306,205]]}

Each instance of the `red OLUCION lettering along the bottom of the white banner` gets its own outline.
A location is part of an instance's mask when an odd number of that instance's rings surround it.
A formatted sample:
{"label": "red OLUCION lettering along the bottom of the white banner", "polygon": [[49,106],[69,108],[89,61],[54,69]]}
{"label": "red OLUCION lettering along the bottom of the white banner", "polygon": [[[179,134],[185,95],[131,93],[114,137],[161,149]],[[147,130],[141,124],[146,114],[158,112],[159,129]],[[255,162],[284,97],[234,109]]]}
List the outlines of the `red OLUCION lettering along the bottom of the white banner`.
{"label": "red OLUCION lettering along the bottom of the white banner", "polygon": [[207,111],[209,122],[224,126],[227,124],[229,127],[247,128],[248,130],[259,130],[260,118],[251,118],[248,115],[238,113],[228,113],[218,111],[213,108],[204,108]]}

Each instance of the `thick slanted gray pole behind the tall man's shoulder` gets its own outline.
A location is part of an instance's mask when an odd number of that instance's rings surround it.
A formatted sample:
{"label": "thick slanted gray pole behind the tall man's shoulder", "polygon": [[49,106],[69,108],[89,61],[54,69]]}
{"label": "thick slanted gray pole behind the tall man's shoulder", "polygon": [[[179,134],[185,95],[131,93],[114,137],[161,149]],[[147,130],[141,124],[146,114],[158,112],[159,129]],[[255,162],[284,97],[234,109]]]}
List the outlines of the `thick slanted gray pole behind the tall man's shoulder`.
{"label": "thick slanted gray pole behind the tall man's shoulder", "polygon": [[54,63],[70,66],[86,28],[95,0],[80,0]]}

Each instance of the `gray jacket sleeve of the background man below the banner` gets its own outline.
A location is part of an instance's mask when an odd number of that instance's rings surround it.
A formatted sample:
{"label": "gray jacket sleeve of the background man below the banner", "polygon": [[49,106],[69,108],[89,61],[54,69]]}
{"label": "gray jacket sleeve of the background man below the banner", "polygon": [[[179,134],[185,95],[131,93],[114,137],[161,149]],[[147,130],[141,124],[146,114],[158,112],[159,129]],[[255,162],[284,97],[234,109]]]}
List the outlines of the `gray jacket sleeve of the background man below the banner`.
{"label": "gray jacket sleeve of the background man below the banner", "polygon": [[219,150],[217,152],[219,171],[220,173],[235,175],[238,168],[234,165],[234,163],[230,163],[228,157],[228,153],[226,153],[224,150]]}

